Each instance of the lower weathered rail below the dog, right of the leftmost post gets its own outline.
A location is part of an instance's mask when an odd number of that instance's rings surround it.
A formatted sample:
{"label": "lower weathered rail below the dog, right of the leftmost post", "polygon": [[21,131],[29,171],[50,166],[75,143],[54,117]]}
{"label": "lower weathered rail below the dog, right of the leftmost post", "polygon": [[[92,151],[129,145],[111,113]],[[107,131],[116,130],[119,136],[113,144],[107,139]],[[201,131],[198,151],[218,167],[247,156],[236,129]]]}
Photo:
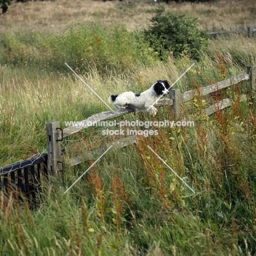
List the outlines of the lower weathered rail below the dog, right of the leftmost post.
{"label": "lower weathered rail below the dog, right of the leftmost post", "polygon": [[68,160],[68,163],[69,165],[73,166],[73,165],[81,164],[84,161],[94,160],[105,152],[105,148],[109,148],[110,146],[114,146],[115,148],[123,148],[130,144],[136,143],[136,139],[137,139],[137,136],[133,135],[126,138],[121,138],[118,141],[109,142],[105,147],[103,146],[100,149],[95,150],[94,152],[88,152],[88,153],[74,156],[74,158],[71,158]]}

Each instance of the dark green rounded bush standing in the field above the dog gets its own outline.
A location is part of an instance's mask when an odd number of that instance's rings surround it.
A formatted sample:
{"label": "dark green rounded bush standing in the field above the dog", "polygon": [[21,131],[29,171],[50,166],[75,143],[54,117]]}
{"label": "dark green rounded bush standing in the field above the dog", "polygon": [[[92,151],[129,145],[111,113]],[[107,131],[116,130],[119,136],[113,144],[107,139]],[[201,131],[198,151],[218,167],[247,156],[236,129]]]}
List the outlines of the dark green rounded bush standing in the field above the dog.
{"label": "dark green rounded bush standing in the field above the dog", "polygon": [[151,10],[155,16],[150,20],[152,25],[144,31],[146,40],[159,54],[166,59],[168,52],[174,56],[188,53],[193,59],[199,59],[199,50],[207,46],[206,34],[197,28],[197,18],[179,13],[164,14],[164,5]]}

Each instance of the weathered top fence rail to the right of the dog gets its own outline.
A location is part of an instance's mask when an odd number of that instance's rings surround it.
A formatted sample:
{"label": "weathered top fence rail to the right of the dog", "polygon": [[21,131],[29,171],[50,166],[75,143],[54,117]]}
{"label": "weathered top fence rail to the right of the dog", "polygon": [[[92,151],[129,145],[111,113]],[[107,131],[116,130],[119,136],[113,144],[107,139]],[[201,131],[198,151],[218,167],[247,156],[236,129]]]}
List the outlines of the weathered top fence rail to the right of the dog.
{"label": "weathered top fence rail to the right of the dog", "polygon": [[246,73],[238,74],[236,77],[231,77],[230,79],[220,81],[216,84],[208,85],[205,87],[201,87],[199,90],[191,90],[191,91],[186,91],[184,94],[181,95],[183,102],[192,100],[194,96],[197,95],[207,95],[210,94],[211,92],[226,88],[230,85],[238,84],[242,81],[248,80],[249,75]]}

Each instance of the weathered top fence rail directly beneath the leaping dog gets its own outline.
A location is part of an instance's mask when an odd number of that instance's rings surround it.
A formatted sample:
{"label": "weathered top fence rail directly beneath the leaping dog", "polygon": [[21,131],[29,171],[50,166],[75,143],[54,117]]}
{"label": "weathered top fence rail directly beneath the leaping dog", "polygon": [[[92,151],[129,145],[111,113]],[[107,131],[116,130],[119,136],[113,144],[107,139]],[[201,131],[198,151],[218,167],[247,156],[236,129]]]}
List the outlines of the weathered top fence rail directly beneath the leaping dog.
{"label": "weathered top fence rail directly beneath the leaping dog", "polygon": [[[172,103],[172,100],[165,98],[165,99],[159,100],[159,102],[156,103],[154,106],[160,107],[160,106],[164,106],[165,104],[169,104],[169,103]],[[85,128],[91,127],[91,126],[93,126],[92,124],[95,122],[104,121],[104,120],[108,120],[108,119],[115,118],[115,117],[121,117],[122,115],[126,115],[131,112],[134,112],[134,109],[126,108],[126,109],[106,111],[106,112],[101,112],[101,113],[91,115],[91,117],[80,121],[81,125],[70,126],[70,127],[63,129],[63,137],[67,137],[69,135],[72,135],[73,133],[76,133]]]}

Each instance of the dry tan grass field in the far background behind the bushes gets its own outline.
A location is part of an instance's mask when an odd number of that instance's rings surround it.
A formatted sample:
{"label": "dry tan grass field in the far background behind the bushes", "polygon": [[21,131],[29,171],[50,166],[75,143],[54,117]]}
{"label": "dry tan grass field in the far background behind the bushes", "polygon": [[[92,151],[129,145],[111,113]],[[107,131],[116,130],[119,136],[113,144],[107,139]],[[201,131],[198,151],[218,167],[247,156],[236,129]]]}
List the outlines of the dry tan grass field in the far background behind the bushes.
{"label": "dry tan grass field in the far background behind the bushes", "polygon": [[[75,22],[102,21],[104,24],[118,22],[127,29],[146,28],[150,14],[146,10],[156,7],[152,1],[124,0],[94,1],[94,0],[56,0],[31,1],[10,5],[8,12],[0,15],[1,31],[54,31]],[[200,18],[200,27],[212,30],[245,28],[248,25],[256,27],[256,2],[254,0],[219,0],[210,3],[176,3],[166,5],[168,11],[181,11]]]}

